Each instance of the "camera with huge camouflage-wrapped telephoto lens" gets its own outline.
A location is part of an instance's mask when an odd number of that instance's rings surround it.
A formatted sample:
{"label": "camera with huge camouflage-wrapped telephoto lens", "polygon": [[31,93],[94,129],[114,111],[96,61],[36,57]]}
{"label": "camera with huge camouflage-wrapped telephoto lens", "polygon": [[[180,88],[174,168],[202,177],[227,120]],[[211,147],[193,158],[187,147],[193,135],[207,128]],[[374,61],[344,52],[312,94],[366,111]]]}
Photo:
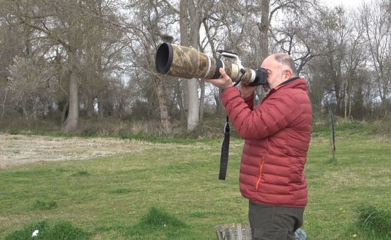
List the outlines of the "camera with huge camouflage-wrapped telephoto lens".
{"label": "camera with huge camouflage-wrapped telephoto lens", "polygon": [[268,71],[264,68],[250,69],[242,66],[237,53],[217,50],[220,56],[232,61],[222,61],[198,52],[193,47],[162,43],[157,51],[155,67],[158,73],[180,78],[221,78],[224,68],[233,82],[242,81],[250,86],[267,84]]}

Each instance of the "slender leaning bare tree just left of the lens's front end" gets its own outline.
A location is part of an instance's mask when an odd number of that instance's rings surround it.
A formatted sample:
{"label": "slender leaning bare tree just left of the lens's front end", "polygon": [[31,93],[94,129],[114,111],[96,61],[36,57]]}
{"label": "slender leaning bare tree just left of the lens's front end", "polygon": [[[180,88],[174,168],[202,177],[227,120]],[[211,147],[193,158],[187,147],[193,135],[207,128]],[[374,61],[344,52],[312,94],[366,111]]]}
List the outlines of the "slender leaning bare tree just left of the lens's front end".
{"label": "slender leaning bare tree just left of the lens's front end", "polygon": [[[172,127],[167,106],[165,77],[157,74],[154,70],[159,40],[170,39],[166,34],[167,30],[162,30],[168,25],[167,21],[172,21],[170,13],[165,9],[165,6],[148,1],[131,1],[129,11],[143,13],[138,14],[132,20],[123,18],[123,26],[127,31],[127,45],[132,58],[130,59],[131,71],[138,71],[137,76],[146,80],[148,86],[153,87],[162,127],[170,133]],[[152,103],[155,102],[153,99],[150,100]]]}

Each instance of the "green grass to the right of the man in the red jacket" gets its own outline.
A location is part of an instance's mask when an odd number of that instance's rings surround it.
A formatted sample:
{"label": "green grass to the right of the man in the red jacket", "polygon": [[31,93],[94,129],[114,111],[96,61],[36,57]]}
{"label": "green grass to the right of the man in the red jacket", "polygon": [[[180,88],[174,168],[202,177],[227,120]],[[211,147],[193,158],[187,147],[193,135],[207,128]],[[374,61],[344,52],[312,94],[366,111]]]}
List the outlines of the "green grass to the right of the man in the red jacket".
{"label": "green grass to the right of the man in the red jacket", "polygon": [[311,142],[306,166],[309,205],[303,230],[311,239],[379,239],[363,237],[351,226],[357,220],[357,208],[362,205],[391,207],[390,140],[339,135],[335,161],[330,161],[328,145],[328,139]]}

